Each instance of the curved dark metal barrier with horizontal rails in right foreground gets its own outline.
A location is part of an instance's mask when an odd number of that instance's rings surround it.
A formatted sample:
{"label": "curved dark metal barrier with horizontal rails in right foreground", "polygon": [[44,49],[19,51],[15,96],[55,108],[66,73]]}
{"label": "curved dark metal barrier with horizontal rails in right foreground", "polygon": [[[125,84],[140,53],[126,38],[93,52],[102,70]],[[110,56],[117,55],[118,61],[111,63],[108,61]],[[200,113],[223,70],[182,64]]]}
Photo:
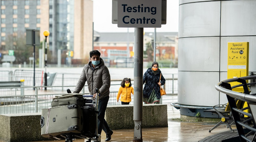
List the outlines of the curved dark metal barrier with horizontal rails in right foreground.
{"label": "curved dark metal barrier with horizontal rails in right foreground", "polygon": [[[239,137],[233,141],[241,142],[254,142],[256,137],[256,94],[249,94],[248,86],[256,84],[256,82],[247,83],[246,80],[255,80],[256,75],[232,78],[228,80],[223,80],[215,85],[216,90],[221,93],[225,93],[228,98],[228,103],[230,104],[230,109],[234,118],[234,122],[236,124],[237,132],[239,133]],[[241,84],[231,86],[230,82],[239,82]],[[243,86],[243,93],[232,91],[232,88]],[[239,110],[236,108],[235,99],[239,99],[241,101],[245,101],[248,103],[249,108],[244,108],[243,110]],[[245,112],[245,109],[249,109],[249,111]],[[248,116],[247,119],[242,120],[241,116]],[[253,136],[252,136],[253,135]]]}

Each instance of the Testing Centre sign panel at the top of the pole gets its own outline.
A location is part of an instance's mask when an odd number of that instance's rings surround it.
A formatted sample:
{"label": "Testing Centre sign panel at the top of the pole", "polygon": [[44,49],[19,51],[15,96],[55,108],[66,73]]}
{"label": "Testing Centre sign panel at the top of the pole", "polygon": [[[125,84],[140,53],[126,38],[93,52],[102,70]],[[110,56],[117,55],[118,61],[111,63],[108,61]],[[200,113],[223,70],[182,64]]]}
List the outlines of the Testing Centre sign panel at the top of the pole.
{"label": "Testing Centre sign panel at the top of the pole", "polygon": [[127,28],[158,28],[166,24],[166,7],[166,0],[112,0],[112,24]]}

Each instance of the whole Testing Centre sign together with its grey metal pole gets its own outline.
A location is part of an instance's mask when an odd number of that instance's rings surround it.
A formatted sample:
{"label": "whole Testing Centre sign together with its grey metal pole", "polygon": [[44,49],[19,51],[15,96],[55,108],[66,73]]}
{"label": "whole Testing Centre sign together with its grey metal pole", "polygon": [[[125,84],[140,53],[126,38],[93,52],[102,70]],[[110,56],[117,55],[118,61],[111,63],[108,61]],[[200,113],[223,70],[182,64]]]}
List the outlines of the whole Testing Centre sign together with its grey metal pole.
{"label": "whole Testing Centre sign together with its grey metal pole", "polygon": [[133,142],[142,142],[143,28],[166,24],[166,0],[112,0],[112,23],[135,28]]}

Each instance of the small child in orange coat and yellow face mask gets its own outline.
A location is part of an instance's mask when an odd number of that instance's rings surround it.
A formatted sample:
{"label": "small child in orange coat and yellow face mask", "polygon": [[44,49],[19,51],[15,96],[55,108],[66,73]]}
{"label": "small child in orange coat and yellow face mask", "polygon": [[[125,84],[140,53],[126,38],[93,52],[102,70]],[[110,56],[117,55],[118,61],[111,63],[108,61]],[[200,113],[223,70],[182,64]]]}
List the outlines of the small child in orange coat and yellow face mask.
{"label": "small child in orange coat and yellow face mask", "polygon": [[121,87],[117,93],[117,102],[119,101],[119,97],[121,95],[121,104],[128,105],[130,101],[132,101],[131,93],[133,95],[133,87],[130,78],[124,78],[121,82]]}

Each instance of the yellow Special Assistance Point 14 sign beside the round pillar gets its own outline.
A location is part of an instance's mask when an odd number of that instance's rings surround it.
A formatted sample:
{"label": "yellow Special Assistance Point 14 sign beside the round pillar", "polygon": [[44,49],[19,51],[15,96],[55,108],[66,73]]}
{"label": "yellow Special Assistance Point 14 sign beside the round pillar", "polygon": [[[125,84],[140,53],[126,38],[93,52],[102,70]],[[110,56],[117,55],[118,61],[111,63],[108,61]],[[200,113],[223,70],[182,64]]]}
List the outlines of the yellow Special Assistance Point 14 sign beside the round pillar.
{"label": "yellow Special Assistance Point 14 sign beside the round pillar", "polygon": [[[249,42],[228,43],[228,79],[248,76],[249,65]],[[230,83],[231,86],[240,83]],[[233,89],[237,92],[243,92],[243,87]]]}

